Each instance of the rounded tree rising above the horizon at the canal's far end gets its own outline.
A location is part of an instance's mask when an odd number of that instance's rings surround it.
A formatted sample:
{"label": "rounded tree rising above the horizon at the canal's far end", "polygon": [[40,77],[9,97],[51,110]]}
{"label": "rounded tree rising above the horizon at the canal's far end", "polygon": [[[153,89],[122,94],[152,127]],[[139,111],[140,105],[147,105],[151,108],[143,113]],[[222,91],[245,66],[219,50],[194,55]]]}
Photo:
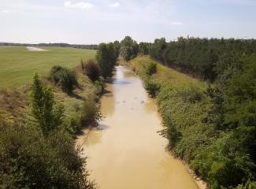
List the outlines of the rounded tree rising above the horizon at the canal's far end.
{"label": "rounded tree rising above the horizon at the canal's far end", "polygon": [[129,61],[133,57],[136,57],[138,52],[139,52],[139,45],[130,36],[126,36],[121,41],[120,54],[121,54],[121,57],[123,57],[125,61]]}

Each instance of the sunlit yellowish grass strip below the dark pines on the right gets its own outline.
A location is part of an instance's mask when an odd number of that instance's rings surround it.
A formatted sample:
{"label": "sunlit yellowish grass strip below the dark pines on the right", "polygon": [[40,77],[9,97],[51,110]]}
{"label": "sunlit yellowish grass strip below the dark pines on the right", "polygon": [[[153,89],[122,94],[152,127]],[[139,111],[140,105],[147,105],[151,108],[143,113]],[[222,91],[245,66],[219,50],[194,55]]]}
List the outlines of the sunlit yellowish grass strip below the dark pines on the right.
{"label": "sunlit yellowish grass strip below the dark pines on the right", "polygon": [[157,80],[158,82],[162,83],[171,83],[174,86],[177,87],[186,87],[191,84],[204,89],[206,87],[206,83],[197,80],[191,76],[187,76],[181,72],[177,72],[173,69],[169,69],[161,64],[159,64],[157,61],[153,61],[148,56],[141,56],[136,57],[132,61],[132,66],[135,68],[136,72],[138,72],[139,75],[143,74],[144,68],[146,65],[148,65],[150,62],[155,62],[158,64],[158,72],[155,73],[152,78],[154,80]]}

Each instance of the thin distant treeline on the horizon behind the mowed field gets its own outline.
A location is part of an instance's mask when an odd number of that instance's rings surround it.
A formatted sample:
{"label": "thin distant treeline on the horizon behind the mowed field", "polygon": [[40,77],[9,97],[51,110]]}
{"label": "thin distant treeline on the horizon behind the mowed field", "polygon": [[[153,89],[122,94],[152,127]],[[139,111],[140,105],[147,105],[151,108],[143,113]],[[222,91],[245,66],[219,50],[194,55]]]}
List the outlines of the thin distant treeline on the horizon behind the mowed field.
{"label": "thin distant treeline on the horizon behind the mowed field", "polygon": [[69,43],[39,43],[39,44],[31,44],[31,43],[0,43],[0,46],[60,46],[60,47],[73,47],[79,49],[92,49],[97,50],[98,45],[90,44],[90,45],[76,45]]}

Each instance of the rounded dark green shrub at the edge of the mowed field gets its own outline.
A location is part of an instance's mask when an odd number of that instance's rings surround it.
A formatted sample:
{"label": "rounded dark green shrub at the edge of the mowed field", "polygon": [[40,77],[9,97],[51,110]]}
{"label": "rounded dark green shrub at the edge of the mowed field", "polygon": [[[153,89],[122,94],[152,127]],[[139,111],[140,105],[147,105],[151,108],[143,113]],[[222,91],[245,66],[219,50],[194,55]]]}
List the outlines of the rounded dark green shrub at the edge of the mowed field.
{"label": "rounded dark green shrub at the edge of the mowed field", "polygon": [[65,69],[59,65],[55,65],[50,70],[50,81],[54,82],[62,91],[70,94],[75,87],[78,86],[76,72]]}

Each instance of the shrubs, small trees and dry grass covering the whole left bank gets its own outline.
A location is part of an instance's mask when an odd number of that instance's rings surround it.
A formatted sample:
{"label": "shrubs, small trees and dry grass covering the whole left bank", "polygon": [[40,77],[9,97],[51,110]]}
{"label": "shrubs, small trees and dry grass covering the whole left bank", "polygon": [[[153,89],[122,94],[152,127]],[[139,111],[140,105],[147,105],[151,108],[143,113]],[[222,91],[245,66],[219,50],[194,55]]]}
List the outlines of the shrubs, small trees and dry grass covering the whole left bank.
{"label": "shrubs, small trees and dry grass covering the whole left bank", "polygon": [[[97,57],[115,59],[93,64],[112,70],[117,52],[113,43],[106,46],[109,51],[98,50]],[[95,187],[87,180],[86,158],[80,158],[74,138],[101,119],[96,102],[104,80],[101,75],[91,80],[82,68],[79,63],[74,69],[54,65],[45,76],[35,73],[29,87],[0,91],[1,188]]]}

